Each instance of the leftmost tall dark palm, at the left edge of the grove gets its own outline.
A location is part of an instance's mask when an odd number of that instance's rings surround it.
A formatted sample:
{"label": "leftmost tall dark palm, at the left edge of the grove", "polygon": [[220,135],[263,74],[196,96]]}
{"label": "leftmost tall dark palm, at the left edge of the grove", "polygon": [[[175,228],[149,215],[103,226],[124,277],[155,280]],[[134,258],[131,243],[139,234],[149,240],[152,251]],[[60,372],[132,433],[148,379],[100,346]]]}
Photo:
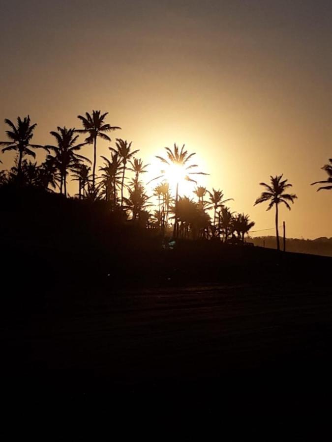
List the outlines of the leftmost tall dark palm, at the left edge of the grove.
{"label": "leftmost tall dark palm, at the left edge of the grove", "polygon": [[[0,146],[6,146],[2,149],[2,153],[15,150],[18,153],[17,164],[17,179],[21,177],[22,159],[25,155],[30,155],[32,158],[36,157],[36,154],[30,148],[42,148],[44,146],[39,144],[31,144],[30,141],[33,137],[33,131],[37,126],[37,123],[30,125],[30,116],[24,117],[23,120],[17,117],[17,125],[7,118],[4,122],[10,127],[9,131],[6,131],[7,137],[10,141],[0,141]],[[47,150],[47,149],[46,149]]]}

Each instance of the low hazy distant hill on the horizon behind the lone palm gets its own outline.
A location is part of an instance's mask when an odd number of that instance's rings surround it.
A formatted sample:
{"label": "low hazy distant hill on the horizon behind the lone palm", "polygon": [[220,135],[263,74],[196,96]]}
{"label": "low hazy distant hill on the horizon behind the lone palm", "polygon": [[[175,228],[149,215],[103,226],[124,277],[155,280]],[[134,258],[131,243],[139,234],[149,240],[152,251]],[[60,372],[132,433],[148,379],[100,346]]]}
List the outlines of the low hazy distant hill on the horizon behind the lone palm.
{"label": "low hazy distant hill on the horizon behind the lone palm", "polygon": [[[247,242],[254,243],[255,246],[275,249],[275,236],[257,236],[250,238]],[[280,248],[283,248],[282,238]],[[314,240],[299,238],[287,238],[286,250],[299,253],[312,253],[314,255],[332,256],[332,238],[321,237]]]}

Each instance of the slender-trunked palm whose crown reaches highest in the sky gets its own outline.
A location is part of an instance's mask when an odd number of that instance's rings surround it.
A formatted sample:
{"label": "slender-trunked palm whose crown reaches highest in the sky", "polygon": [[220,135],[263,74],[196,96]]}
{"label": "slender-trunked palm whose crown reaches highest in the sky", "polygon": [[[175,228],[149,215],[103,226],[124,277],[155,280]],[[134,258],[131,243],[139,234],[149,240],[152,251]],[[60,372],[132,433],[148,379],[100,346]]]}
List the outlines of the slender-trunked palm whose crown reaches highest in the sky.
{"label": "slender-trunked palm whose crown reaches highest in the sky", "polygon": [[93,168],[92,168],[92,187],[95,185],[95,171],[96,171],[96,159],[97,159],[97,138],[106,139],[107,141],[112,141],[111,138],[105,134],[105,132],[115,131],[116,129],[121,129],[119,126],[111,126],[105,123],[105,117],[108,112],[100,114],[100,111],[92,111],[92,115],[86,112],[85,116],[78,115],[82,121],[84,129],[76,129],[76,132],[82,134],[89,134],[86,138],[86,142],[93,143]]}

